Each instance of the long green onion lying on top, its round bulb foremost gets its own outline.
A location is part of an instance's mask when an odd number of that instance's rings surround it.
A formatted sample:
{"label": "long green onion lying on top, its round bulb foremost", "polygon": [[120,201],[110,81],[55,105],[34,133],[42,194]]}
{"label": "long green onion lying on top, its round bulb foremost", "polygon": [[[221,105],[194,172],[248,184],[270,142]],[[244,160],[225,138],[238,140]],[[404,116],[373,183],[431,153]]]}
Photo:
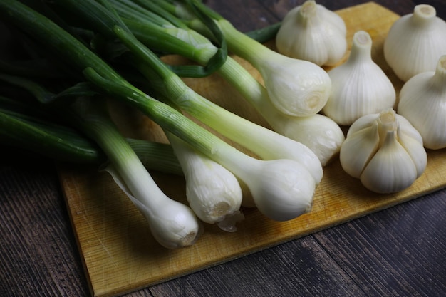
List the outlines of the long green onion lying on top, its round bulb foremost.
{"label": "long green onion lying on top, its round bulb foremost", "polygon": [[[102,6],[97,7],[96,2],[73,1],[71,4],[75,6],[71,7],[73,11],[85,9],[83,14],[90,14],[89,17],[93,15],[93,18],[100,16],[101,22],[108,21],[109,15],[102,18],[103,16],[98,14],[96,9]],[[304,165],[286,159],[258,160],[236,150],[175,108],[161,103],[128,83],[83,43],[18,1],[0,3],[0,14],[34,38],[38,38],[48,50],[61,55],[67,63],[71,62],[73,67],[82,71],[85,78],[105,95],[138,108],[163,129],[177,135],[233,172],[247,184],[256,207],[266,217],[285,221],[311,209],[316,182]],[[125,27],[115,21],[108,29],[118,33],[118,36],[120,33],[131,36],[130,31],[126,31]]]}

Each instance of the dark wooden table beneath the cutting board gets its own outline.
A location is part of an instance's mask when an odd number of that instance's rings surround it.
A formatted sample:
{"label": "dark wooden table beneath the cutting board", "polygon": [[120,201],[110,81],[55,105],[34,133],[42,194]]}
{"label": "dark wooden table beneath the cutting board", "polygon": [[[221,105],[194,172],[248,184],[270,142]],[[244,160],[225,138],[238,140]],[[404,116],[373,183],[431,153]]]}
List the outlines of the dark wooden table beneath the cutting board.
{"label": "dark wooden table beneath the cutting board", "polygon": [[[249,31],[303,1],[206,3]],[[444,0],[376,2],[400,15],[431,4],[446,19]],[[0,296],[88,296],[56,167],[0,149]],[[446,296],[445,213],[442,190],[127,296]]]}

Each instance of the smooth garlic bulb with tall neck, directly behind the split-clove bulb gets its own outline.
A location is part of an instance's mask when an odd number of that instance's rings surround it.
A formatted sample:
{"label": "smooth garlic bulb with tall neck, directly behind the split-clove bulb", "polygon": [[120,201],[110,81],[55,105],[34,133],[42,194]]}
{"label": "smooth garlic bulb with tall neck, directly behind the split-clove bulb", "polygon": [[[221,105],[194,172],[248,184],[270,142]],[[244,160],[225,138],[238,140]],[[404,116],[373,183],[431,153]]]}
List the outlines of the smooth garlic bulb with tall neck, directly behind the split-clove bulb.
{"label": "smooth garlic bulb with tall neck, directly behind the split-clove bulb", "polygon": [[395,104],[396,93],[390,79],[372,60],[372,38],[365,31],[353,36],[346,63],[328,71],[331,94],[323,108],[328,118],[351,125],[369,113],[379,113]]}

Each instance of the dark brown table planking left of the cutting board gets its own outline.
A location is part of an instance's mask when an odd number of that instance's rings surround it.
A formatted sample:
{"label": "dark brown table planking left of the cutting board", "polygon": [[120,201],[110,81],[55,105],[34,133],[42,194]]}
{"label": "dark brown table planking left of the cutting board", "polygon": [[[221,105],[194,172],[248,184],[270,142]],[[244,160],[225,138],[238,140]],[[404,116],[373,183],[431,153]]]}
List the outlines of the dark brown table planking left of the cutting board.
{"label": "dark brown table planking left of the cutting board", "polygon": [[88,296],[53,162],[1,152],[0,296]]}

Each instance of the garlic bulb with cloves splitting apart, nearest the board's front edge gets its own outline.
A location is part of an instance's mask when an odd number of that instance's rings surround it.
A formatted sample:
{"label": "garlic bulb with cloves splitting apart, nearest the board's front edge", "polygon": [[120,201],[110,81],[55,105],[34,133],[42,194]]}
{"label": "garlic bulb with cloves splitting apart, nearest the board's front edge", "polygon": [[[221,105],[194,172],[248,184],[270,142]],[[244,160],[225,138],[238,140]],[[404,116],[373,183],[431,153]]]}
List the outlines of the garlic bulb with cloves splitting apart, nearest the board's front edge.
{"label": "garlic bulb with cloves splitting apart, nearest the board's front edge", "polygon": [[378,193],[410,187],[427,165],[420,133],[392,108],[356,120],[339,158],[343,170]]}

